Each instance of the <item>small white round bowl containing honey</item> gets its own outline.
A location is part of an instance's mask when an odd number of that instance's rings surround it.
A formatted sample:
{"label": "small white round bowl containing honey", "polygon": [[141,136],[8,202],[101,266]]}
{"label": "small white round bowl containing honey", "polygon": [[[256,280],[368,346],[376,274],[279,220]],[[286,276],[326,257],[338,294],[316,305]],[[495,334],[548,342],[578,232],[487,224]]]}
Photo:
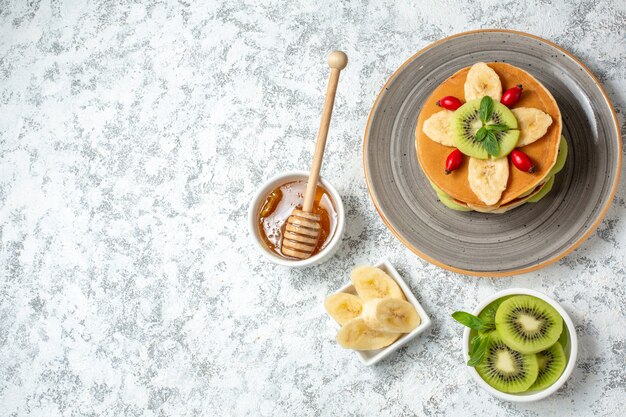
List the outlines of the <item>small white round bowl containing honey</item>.
{"label": "small white round bowl containing honey", "polygon": [[335,234],[331,238],[330,242],[328,242],[326,247],[322,249],[319,253],[311,256],[308,259],[295,260],[281,258],[263,245],[263,241],[261,240],[261,236],[259,235],[259,229],[257,226],[257,216],[259,210],[261,209],[261,205],[265,202],[265,198],[267,197],[267,195],[279,185],[296,180],[307,181],[308,178],[309,173],[307,171],[290,171],[278,174],[275,177],[270,178],[265,184],[261,186],[259,191],[252,199],[252,202],[250,203],[250,208],[248,209],[248,228],[250,230],[250,236],[252,237],[252,240],[259,248],[263,256],[276,264],[296,268],[317,265],[330,259],[335,254],[335,252],[337,252],[337,249],[339,249],[339,245],[341,244],[343,231],[346,225],[346,214],[343,209],[343,203],[341,202],[341,197],[339,196],[337,190],[335,190],[335,187],[333,187],[328,181],[320,177],[319,182],[328,191],[328,194],[330,194],[330,198],[335,206],[335,210],[337,211],[337,228],[335,229]]}

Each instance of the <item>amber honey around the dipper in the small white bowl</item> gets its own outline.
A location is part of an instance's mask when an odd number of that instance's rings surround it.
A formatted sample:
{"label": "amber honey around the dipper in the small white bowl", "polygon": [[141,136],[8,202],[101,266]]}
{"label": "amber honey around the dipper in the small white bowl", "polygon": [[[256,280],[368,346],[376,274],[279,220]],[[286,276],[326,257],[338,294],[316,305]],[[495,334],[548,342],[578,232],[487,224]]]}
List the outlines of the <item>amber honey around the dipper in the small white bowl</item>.
{"label": "amber honey around the dipper in the small white bowl", "polygon": [[[306,181],[290,181],[274,190],[266,197],[259,210],[259,234],[267,249],[281,258],[295,259],[282,253],[281,245],[287,219],[295,208],[302,209]],[[313,213],[319,214],[321,232],[311,256],[316,255],[328,245],[337,227],[337,211],[330,194],[318,184],[315,190]]]}

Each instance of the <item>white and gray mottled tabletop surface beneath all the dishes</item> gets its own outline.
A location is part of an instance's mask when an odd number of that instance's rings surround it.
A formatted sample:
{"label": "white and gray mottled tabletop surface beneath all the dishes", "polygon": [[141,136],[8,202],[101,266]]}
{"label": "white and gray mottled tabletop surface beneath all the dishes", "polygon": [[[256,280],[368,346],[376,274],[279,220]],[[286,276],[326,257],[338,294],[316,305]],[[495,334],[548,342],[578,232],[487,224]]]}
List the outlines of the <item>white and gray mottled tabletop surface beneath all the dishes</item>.
{"label": "white and gray mottled tabletop surface beneath all the dishes", "polygon": [[[363,179],[363,129],[384,81],[468,29],[569,49],[624,129],[626,3],[551,3],[0,1],[0,414],[621,414],[624,181],[564,260],[481,279],[404,248]],[[255,252],[246,209],[266,178],[308,166],[335,48],[350,63],[322,174],[343,196],[346,235],[327,264],[289,270]],[[433,327],[366,368],[334,342],[322,301],[353,265],[383,257]],[[513,286],[560,300],[577,324],[574,374],[539,403],[480,390],[450,318]]]}

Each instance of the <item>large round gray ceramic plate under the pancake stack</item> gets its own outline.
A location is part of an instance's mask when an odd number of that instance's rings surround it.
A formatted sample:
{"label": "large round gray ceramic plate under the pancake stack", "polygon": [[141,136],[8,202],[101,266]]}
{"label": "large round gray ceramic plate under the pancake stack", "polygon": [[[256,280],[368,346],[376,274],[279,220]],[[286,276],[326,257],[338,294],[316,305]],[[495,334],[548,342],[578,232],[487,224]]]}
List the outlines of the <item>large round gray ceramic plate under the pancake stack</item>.
{"label": "large round gray ceramic plate under the pancake stack", "polygon": [[[415,154],[423,101],[446,78],[478,61],[507,62],[542,82],[559,104],[569,144],[552,192],[499,215],[444,207]],[[363,146],[367,185],[385,224],[424,259],[471,275],[528,272],[567,255],[600,223],[621,165],[615,112],[591,72],[557,45],[502,30],[461,33],[405,62],[378,95]]]}

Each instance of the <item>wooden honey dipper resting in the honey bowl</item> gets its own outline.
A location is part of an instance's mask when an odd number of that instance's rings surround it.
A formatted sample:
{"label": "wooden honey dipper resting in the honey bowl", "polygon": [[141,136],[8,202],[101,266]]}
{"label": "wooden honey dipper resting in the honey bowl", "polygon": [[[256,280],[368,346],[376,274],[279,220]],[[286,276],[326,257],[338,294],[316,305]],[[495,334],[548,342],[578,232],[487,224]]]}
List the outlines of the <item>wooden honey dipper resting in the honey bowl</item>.
{"label": "wooden honey dipper resting in the honey bowl", "polygon": [[291,216],[287,219],[287,226],[285,227],[283,244],[281,246],[283,255],[286,256],[298,259],[309,258],[315,250],[317,241],[320,238],[320,216],[319,214],[313,213],[313,203],[315,201],[315,191],[320,176],[324,148],[326,147],[330,116],[332,115],[333,105],[335,104],[335,93],[337,92],[339,73],[347,64],[348,56],[341,51],[333,51],[328,55],[330,78],[328,80],[328,88],[326,89],[326,98],[324,99],[324,110],[322,111],[320,129],[317,133],[315,154],[313,155],[313,163],[311,164],[311,172],[304,194],[302,210],[294,209]]}

